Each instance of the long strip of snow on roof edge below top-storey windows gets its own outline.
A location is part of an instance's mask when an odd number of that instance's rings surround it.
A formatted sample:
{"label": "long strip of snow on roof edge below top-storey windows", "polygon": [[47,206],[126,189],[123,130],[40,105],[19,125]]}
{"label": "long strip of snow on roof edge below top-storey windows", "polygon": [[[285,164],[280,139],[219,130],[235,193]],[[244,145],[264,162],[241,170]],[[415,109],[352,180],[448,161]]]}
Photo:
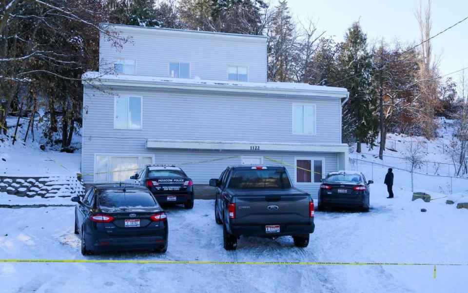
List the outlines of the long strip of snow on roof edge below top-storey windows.
{"label": "long strip of snow on roof edge below top-storey windows", "polygon": [[254,90],[254,91],[277,91],[288,92],[289,94],[335,96],[345,98],[348,90],[340,87],[330,87],[321,85],[310,85],[307,83],[295,82],[249,82],[249,81],[228,81],[210,80],[201,78],[164,78],[135,75],[103,74],[88,71],[82,75],[83,83],[95,85],[128,85],[128,86],[190,86],[203,88],[217,88],[222,90]]}

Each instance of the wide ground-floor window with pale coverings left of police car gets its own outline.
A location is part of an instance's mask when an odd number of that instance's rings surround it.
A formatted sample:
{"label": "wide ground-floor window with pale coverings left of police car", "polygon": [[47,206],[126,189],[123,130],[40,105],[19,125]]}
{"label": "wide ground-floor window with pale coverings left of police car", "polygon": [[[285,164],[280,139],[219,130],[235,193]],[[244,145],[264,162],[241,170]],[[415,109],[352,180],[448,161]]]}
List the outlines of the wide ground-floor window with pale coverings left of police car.
{"label": "wide ground-floor window with pale coverings left of police car", "polygon": [[152,163],[153,156],[96,155],[95,182],[128,181]]}

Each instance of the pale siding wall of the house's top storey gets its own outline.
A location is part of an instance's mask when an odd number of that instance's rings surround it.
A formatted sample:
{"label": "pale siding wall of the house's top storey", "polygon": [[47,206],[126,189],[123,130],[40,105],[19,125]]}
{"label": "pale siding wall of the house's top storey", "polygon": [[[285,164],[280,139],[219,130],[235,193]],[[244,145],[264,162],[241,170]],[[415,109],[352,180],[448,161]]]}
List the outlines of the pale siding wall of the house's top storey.
{"label": "pale siding wall of the house's top storey", "polygon": [[228,80],[228,65],[247,66],[248,81],[267,81],[267,39],[259,36],[219,34],[159,28],[115,26],[120,37],[131,36],[117,50],[100,37],[101,73],[114,58],[136,59],[136,75],[169,77],[169,62],[189,62],[190,77]]}

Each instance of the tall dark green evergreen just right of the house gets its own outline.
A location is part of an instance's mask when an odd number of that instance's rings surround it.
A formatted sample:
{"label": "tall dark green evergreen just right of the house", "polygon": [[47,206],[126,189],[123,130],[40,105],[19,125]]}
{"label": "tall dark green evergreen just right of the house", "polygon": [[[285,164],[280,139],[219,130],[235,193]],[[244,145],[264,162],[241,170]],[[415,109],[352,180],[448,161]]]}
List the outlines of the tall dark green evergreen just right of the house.
{"label": "tall dark green evergreen just right of the house", "polygon": [[[367,36],[359,22],[354,22],[345,35],[339,56],[341,71],[347,78],[340,81],[350,92],[350,98],[343,109],[343,136],[345,141],[352,135],[357,142],[371,147],[378,134],[379,120],[374,115],[377,100],[372,87],[372,55],[367,48]],[[348,139],[347,139],[348,138]]]}

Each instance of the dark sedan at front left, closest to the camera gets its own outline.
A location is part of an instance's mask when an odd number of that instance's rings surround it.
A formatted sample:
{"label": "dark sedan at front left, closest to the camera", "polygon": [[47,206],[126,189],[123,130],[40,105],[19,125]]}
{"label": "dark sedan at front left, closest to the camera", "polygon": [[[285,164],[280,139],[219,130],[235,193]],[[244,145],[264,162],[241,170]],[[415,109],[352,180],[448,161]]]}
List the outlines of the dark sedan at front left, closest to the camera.
{"label": "dark sedan at front left, closest to the camera", "polygon": [[72,197],[75,234],[81,234],[81,254],[111,250],[167,250],[167,215],[146,188],[97,185]]}

